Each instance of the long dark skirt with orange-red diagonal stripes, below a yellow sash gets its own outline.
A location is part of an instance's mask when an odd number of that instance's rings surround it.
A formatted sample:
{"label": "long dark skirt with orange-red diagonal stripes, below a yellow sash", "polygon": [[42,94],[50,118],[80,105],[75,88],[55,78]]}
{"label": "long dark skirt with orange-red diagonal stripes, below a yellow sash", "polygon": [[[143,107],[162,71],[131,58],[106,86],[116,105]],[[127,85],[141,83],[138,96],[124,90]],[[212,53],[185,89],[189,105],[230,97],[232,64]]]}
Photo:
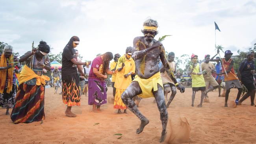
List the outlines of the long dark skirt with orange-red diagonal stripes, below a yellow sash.
{"label": "long dark skirt with orange-red diagonal stripes, below a yellow sash", "polygon": [[15,123],[38,122],[45,119],[45,87],[44,85],[27,85],[22,83],[16,95],[16,103],[11,112],[11,120]]}

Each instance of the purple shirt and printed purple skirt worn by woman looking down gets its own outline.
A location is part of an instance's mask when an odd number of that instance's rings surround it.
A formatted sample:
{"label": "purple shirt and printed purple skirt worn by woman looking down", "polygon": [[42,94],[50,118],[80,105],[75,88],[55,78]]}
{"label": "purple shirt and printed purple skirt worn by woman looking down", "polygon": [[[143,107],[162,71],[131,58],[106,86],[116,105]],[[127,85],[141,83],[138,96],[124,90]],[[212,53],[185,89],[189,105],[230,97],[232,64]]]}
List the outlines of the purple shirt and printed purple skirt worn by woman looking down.
{"label": "purple shirt and printed purple skirt worn by woman looking down", "polygon": [[88,77],[88,104],[103,105],[107,103],[107,92],[105,81],[93,73],[93,68],[97,68],[98,72],[103,72],[103,60],[101,57],[96,57],[91,65],[91,70]]}

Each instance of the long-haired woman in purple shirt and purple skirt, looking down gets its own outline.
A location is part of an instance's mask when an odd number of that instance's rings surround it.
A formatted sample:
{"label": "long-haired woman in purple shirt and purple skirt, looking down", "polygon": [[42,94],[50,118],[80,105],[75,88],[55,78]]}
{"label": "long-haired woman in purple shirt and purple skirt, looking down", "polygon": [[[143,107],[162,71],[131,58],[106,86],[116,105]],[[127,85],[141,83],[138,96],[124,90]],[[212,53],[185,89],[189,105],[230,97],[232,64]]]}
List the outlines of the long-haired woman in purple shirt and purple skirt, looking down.
{"label": "long-haired woman in purple shirt and purple skirt, looking down", "polygon": [[109,62],[113,59],[111,52],[96,57],[91,65],[88,77],[88,104],[93,105],[93,111],[100,111],[100,105],[107,103],[106,74],[115,74],[109,70]]}

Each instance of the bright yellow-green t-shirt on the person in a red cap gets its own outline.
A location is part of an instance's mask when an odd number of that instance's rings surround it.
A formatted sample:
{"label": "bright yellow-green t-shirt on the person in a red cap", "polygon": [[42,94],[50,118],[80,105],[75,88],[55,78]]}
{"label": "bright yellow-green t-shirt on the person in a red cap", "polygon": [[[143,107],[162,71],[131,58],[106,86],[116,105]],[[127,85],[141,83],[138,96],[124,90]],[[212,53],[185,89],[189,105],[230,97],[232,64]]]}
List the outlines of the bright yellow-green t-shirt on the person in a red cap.
{"label": "bright yellow-green t-shirt on the person in a red cap", "polygon": [[[197,63],[197,66],[195,66],[195,68],[193,69],[193,72],[195,73],[199,73],[200,72],[200,64]],[[190,66],[190,69],[192,69],[192,66]],[[191,78],[192,78],[192,87],[205,87],[205,82],[204,82],[204,76],[201,75],[194,75],[191,74]]]}

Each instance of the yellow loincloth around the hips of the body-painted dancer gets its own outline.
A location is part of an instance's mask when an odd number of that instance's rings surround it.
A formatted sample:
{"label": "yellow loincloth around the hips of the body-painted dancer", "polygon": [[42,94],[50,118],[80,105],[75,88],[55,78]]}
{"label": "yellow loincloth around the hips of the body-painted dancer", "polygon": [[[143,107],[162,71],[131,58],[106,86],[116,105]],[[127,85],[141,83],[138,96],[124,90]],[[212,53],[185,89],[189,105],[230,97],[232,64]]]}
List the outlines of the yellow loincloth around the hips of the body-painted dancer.
{"label": "yellow loincloth around the hips of the body-painted dancer", "polygon": [[161,79],[160,72],[154,74],[154,76],[152,76],[148,79],[142,79],[142,78],[139,78],[139,76],[136,75],[135,79],[133,81],[138,81],[139,87],[141,87],[142,94],[138,95],[141,98],[154,97],[152,89],[153,89],[153,91],[157,91],[158,90],[158,87],[157,87],[158,83],[163,88],[163,81]]}

